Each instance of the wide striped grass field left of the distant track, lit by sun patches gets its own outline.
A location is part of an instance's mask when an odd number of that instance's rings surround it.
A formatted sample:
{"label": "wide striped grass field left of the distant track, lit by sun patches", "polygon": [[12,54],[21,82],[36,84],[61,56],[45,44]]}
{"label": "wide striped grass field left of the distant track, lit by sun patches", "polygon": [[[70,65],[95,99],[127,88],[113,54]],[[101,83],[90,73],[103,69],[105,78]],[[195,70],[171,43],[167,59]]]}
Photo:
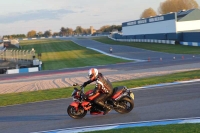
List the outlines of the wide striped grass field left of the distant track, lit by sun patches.
{"label": "wide striped grass field left of the distant track, lit by sun patches", "polygon": [[20,45],[22,46],[22,50],[31,50],[34,48],[36,53],[42,53],[43,70],[129,62],[103,55],[81,47],[71,41],[52,39],[28,40],[20,41]]}

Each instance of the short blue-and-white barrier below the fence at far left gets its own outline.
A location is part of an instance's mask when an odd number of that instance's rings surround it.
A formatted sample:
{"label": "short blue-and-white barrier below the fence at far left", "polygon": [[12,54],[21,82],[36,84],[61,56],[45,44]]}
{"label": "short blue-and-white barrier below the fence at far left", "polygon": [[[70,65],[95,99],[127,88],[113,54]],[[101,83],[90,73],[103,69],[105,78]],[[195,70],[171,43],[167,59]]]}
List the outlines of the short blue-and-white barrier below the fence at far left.
{"label": "short blue-and-white barrier below the fence at far left", "polygon": [[38,71],[39,71],[38,67],[20,68],[20,69],[7,70],[6,74],[28,73],[28,72],[38,72]]}

